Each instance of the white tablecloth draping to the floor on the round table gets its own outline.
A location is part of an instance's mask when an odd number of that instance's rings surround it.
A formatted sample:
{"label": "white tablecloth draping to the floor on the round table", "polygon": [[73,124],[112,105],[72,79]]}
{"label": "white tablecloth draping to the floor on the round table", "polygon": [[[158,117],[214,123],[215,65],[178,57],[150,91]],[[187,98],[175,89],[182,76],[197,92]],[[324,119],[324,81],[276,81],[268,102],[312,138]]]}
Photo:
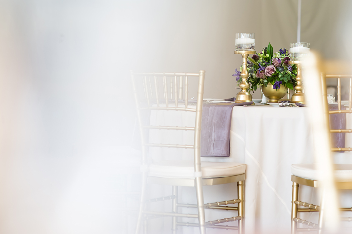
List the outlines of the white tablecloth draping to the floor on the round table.
{"label": "white tablecloth draping to the floor on the round table", "polygon": [[[170,116],[152,115],[151,123],[154,120],[160,122],[168,118],[171,119],[171,122],[178,124],[185,124],[185,122],[191,124],[194,121],[193,115],[176,114],[171,116],[171,114],[165,114]],[[312,130],[307,115],[307,108],[234,107],[231,121],[230,157],[202,158],[203,161],[240,162],[247,165],[245,179],[246,233],[254,233],[254,231],[256,233],[258,231],[260,233],[289,232],[292,196],[291,164],[314,162]],[[350,122],[347,118],[347,128],[351,125]],[[185,134],[180,144],[189,144],[192,141],[187,137],[187,133],[180,132],[180,134]],[[158,136],[151,133],[151,136],[152,139],[167,138],[166,133]],[[351,138],[347,135],[346,142],[351,142]],[[159,150],[155,149],[153,152]],[[346,155],[351,154],[340,153],[337,162],[346,162]],[[191,157],[193,157],[192,154],[183,151],[183,158]],[[349,156],[349,158],[352,157]],[[233,199],[233,195],[237,196],[235,184],[231,186],[216,185],[215,187],[216,189],[204,187],[205,202],[223,201]],[[319,205],[318,191],[306,186],[300,189],[299,195],[304,195],[308,199],[306,202]],[[191,192],[193,192],[193,188],[181,189],[180,202],[194,203],[195,197],[190,196]],[[192,213],[192,210],[188,211]],[[211,211],[214,212],[214,210]],[[220,212],[217,212],[210,215],[207,211],[206,219],[224,218],[224,213],[218,216]],[[300,215],[307,219],[310,216],[317,217],[317,213]],[[227,217],[226,214],[225,217]],[[228,217],[232,216],[229,214]],[[196,221],[188,219],[186,222]],[[232,223],[228,225],[232,225]],[[196,229],[190,229],[183,228],[183,233],[196,232]],[[207,231],[212,233],[211,229]],[[214,233],[219,232],[222,233],[220,230],[216,230]]]}

